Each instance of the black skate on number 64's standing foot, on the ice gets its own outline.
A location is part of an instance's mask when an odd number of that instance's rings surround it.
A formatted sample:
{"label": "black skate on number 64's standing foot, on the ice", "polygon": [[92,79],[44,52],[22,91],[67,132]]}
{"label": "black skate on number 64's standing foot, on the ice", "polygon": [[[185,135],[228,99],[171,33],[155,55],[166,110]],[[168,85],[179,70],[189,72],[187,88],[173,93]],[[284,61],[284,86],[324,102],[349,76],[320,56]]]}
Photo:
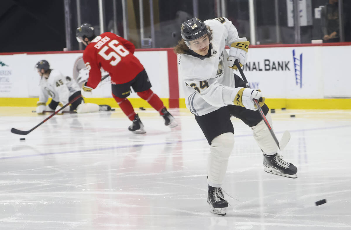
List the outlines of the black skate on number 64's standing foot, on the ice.
{"label": "black skate on number 64's standing foot, on the ice", "polygon": [[214,188],[208,185],[207,203],[211,206],[211,212],[221,216],[227,214],[228,202],[223,197],[222,188]]}

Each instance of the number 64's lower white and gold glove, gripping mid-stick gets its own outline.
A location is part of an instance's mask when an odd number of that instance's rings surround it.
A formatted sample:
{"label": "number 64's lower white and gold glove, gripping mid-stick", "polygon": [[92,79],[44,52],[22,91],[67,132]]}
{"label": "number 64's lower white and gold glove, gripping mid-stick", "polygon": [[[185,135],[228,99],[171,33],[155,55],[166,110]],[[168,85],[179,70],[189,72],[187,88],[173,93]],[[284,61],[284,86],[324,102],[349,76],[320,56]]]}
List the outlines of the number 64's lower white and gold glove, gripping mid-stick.
{"label": "number 64's lower white and gold glove, gripping mid-stick", "polygon": [[266,98],[262,96],[260,90],[241,88],[234,98],[234,105],[239,105],[249,110],[257,110],[253,99],[257,99],[259,106],[262,107]]}

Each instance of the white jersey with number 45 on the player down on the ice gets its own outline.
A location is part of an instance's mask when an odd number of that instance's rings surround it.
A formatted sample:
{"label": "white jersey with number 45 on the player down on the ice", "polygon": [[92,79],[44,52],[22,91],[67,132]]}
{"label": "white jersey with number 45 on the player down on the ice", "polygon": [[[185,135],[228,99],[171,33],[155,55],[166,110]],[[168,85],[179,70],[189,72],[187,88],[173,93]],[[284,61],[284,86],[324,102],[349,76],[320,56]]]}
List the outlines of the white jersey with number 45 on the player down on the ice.
{"label": "white jersey with number 45 on the player down on the ice", "polygon": [[74,79],[64,77],[58,70],[51,70],[47,79],[42,77],[39,86],[39,102],[44,103],[51,97],[54,101],[61,102],[62,105],[65,105],[68,103],[68,98],[73,93],[80,91]]}

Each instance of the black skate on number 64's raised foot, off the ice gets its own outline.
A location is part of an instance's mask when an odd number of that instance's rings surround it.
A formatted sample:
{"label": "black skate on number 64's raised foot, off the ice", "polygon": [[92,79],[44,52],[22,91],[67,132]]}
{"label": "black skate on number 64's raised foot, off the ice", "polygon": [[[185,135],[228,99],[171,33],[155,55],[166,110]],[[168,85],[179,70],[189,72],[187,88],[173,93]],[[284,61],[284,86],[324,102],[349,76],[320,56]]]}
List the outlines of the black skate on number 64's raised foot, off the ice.
{"label": "black skate on number 64's raised foot, off the ice", "polygon": [[276,174],[283,177],[297,178],[297,168],[295,165],[286,162],[283,158],[278,155],[263,155],[263,165],[265,166],[264,171]]}

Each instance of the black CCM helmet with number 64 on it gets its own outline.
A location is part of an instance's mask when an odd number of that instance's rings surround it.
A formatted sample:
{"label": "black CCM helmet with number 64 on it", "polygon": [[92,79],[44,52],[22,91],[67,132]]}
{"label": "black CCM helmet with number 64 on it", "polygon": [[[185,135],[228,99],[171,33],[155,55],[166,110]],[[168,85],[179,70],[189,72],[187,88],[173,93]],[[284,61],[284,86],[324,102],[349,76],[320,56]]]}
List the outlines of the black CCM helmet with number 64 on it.
{"label": "black CCM helmet with number 64 on it", "polygon": [[206,34],[208,34],[210,40],[212,39],[211,32],[208,30],[206,24],[197,18],[183,22],[180,26],[180,34],[185,41],[192,41]]}

